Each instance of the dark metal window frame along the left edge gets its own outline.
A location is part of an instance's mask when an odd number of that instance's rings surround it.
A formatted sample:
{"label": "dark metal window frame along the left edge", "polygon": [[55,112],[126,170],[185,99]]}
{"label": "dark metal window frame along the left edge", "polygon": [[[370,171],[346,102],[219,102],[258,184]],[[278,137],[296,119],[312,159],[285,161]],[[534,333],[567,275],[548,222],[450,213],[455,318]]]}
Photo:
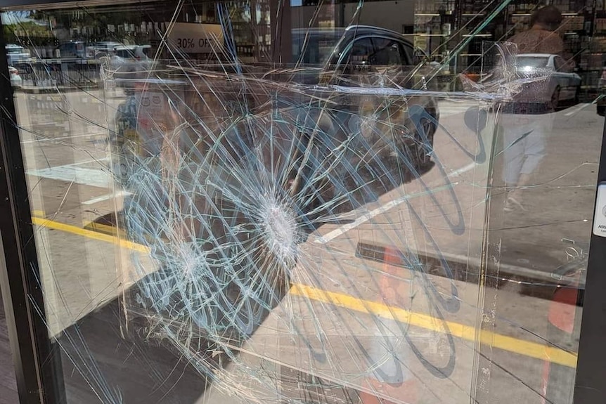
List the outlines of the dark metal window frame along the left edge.
{"label": "dark metal window frame along the left edge", "polygon": [[[0,44],[6,44],[0,21]],[[4,48],[4,46],[2,46]],[[21,403],[64,403],[60,350],[49,339],[8,60],[0,58],[0,287]]]}

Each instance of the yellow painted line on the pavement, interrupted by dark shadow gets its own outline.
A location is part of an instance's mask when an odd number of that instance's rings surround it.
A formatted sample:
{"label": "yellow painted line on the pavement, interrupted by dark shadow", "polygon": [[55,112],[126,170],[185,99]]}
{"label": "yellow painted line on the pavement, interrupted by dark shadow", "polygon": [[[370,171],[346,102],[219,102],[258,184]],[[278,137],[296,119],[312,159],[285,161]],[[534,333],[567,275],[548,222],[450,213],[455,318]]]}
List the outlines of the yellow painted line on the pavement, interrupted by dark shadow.
{"label": "yellow painted line on the pavement, interrupted by dark shadow", "polygon": [[[110,242],[119,245],[120,247],[134,249],[138,252],[149,252],[148,247],[127,240],[121,240],[114,235],[98,233],[96,231],[86,230],[77,226],[71,226],[38,217],[32,217],[32,222],[37,226],[65,231],[66,233],[81,235],[103,242]],[[425,328],[426,330],[444,332],[444,326],[446,326],[453,337],[458,337],[467,341],[475,341],[477,338],[477,329],[474,326],[451,321],[446,321],[444,323],[431,315],[415,313],[405,310],[404,308],[387,306],[376,301],[363,300],[347,294],[328,292],[327,290],[301,284],[292,285],[290,293],[296,296],[306,297],[307,299],[347,308],[359,313],[378,315],[382,318],[397,320],[416,327]],[[482,341],[482,344],[487,344],[493,348],[503,349],[504,351],[518,353],[523,356],[545,360],[559,365],[576,367],[576,355],[560,348],[555,348],[554,346],[537,344],[536,342],[525,341],[524,339],[508,337],[503,334],[496,334],[484,330],[479,332],[479,338]]]}

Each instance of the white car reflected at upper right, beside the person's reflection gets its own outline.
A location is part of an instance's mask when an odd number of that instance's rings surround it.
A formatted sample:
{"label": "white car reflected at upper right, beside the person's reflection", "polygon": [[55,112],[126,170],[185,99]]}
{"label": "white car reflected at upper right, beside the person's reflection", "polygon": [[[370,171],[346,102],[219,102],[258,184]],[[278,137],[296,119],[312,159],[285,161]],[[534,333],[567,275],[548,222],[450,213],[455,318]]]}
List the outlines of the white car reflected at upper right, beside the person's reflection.
{"label": "white car reflected at upper right, beside the person's reflection", "polygon": [[576,101],[581,77],[572,72],[566,61],[557,55],[523,53],[517,56],[517,73],[520,77],[537,77],[516,100],[528,103],[550,103],[555,109],[562,101]]}

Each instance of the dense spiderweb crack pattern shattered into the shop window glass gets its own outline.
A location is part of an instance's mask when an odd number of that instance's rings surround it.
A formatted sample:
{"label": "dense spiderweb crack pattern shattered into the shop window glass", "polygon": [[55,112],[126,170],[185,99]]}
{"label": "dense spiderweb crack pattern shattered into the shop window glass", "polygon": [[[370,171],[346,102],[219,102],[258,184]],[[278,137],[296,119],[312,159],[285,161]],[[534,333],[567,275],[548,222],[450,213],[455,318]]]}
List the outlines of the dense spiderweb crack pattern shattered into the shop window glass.
{"label": "dense spiderweb crack pattern shattered into the shop window glass", "polygon": [[[143,84],[131,87],[119,107],[112,141],[117,181],[131,193],[124,202],[127,235],[149,247],[158,267],[149,271],[134,256],[142,277],[136,304],[150,311],[148,337],[169,341],[217,389],[269,402],[266,390],[241,383],[244,372],[283,402],[287,398],[273,387],[278,375],[249,367],[238,351],[271,311],[292,304],[291,282],[321,283],[323,271],[314,259],[319,252],[304,247],[310,234],[413,179],[434,198],[421,176],[440,164],[433,150],[439,126],[435,98],[445,94],[406,89],[410,77],[397,69],[325,72],[325,81],[309,85],[293,78],[303,74],[300,69],[268,73],[240,63],[193,65],[180,58],[165,65],[131,72],[129,79]],[[116,73],[106,70],[105,82],[132,86]],[[503,76],[489,85],[469,84],[473,92],[458,96],[481,105],[507,99],[516,87]],[[451,196],[454,211],[432,202],[452,232],[462,234],[462,209]],[[421,214],[407,206],[439,251]],[[415,254],[404,251],[403,259],[413,268],[411,288],[424,295],[427,312],[442,330],[435,337],[439,343],[426,344],[411,337],[407,325],[374,317],[367,332],[378,341],[368,347],[347,325],[344,344],[359,365],[340,377],[374,375],[401,384],[414,377],[403,362],[404,347],[435,377],[450,377],[456,355],[443,313],[459,310],[458,292],[444,259],[447,285],[438,288]],[[347,277],[346,266],[335,271]],[[355,293],[359,285],[349,282]],[[417,292],[410,295],[412,306],[419,298]],[[285,334],[302,340],[312,367],[338,367],[321,313],[307,306],[315,335],[302,330],[294,311],[278,322]],[[222,372],[226,363],[240,368]]]}

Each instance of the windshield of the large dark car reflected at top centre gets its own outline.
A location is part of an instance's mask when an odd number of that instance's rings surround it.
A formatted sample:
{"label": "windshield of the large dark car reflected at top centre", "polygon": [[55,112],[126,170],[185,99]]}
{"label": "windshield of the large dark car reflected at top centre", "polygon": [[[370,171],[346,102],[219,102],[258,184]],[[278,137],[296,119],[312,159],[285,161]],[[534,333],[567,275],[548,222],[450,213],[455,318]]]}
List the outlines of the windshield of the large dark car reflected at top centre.
{"label": "windshield of the large dark car reflected at top centre", "polygon": [[342,31],[293,32],[292,60],[306,65],[323,65],[343,35]]}

